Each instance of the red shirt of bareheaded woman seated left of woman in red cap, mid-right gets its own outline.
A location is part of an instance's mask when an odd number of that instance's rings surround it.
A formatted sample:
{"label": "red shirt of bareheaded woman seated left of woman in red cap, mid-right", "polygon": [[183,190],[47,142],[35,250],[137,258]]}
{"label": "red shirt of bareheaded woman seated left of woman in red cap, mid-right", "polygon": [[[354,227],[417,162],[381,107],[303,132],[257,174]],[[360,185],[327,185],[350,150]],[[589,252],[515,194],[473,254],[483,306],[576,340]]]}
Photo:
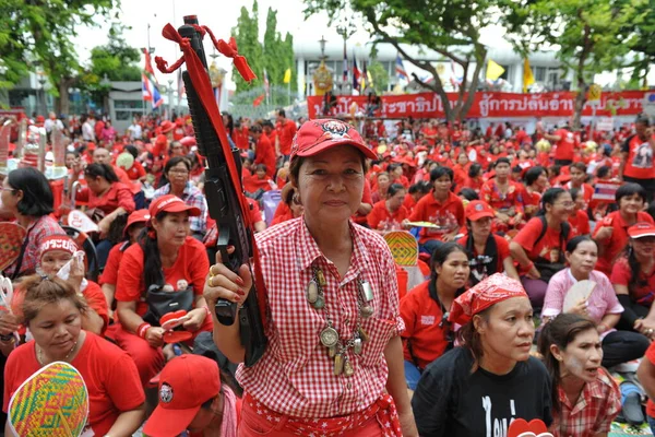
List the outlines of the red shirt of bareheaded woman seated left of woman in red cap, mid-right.
{"label": "red shirt of bareheaded woman seated left of woman in red cap, mid-right", "polygon": [[439,228],[424,227],[420,229],[421,245],[431,239],[442,239],[444,235],[464,226],[464,204],[454,193],[448,193],[442,202],[434,199],[434,191],[421,198],[409,216],[410,222],[430,222]]}

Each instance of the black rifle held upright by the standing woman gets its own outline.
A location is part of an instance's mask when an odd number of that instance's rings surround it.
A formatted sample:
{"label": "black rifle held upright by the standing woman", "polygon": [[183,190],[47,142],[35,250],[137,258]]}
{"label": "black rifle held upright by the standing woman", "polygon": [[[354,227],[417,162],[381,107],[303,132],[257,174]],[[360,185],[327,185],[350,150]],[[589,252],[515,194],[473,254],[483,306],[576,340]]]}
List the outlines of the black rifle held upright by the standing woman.
{"label": "black rifle held upright by the standing woman", "polygon": [[[195,26],[194,26],[195,25]],[[195,15],[184,16],[184,25],[179,29],[179,35],[190,40],[191,47],[201,60],[205,74],[207,75],[207,61],[202,45],[202,34],[199,32],[198,17]],[[193,122],[193,133],[198,143],[198,150],[206,158],[205,167],[205,197],[210,209],[210,216],[216,221],[218,240],[216,248],[221,251],[223,263],[233,272],[238,273],[242,264],[250,265],[253,256],[252,228],[246,226],[240,197],[243,196],[241,186],[241,156],[237,147],[231,147],[231,155],[237,167],[239,186],[235,187],[230,177],[228,163],[224,153],[224,146],[212,126],[207,110],[191,81],[189,71],[182,73],[189,113]],[[215,103],[215,101],[213,101]],[[218,122],[223,122],[219,120]],[[227,247],[234,246],[235,251],[230,255]],[[226,299],[219,299],[214,308],[216,319],[221,324],[231,326],[237,318],[237,304]],[[240,340],[246,349],[246,366],[252,366],[261,358],[267,339],[264,334],[264,324],[260,314],[255,281],[248,294],[246,302],[238,310]]]}

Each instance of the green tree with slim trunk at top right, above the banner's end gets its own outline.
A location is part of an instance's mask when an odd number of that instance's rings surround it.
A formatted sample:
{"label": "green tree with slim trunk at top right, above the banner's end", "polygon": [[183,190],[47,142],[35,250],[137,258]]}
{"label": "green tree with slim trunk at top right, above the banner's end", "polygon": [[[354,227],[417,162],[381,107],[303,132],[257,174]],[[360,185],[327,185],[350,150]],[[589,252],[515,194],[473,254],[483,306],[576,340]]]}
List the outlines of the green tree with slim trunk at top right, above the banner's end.
{"label": "green tree with slim trunk at top right, above the banner's end", "polygon": [[[575,74],[573,128],[580,127],[594,75],[620,69],[636,43],[634,20],[647,0],[527,0],[509,20],[513,42],[524,50],[557,48],[563,69]],[[641,11],[641,12],[640,12]],[[652,10],[651,12],[652,13]],[[650,43],[647,43],[650,44]]]}

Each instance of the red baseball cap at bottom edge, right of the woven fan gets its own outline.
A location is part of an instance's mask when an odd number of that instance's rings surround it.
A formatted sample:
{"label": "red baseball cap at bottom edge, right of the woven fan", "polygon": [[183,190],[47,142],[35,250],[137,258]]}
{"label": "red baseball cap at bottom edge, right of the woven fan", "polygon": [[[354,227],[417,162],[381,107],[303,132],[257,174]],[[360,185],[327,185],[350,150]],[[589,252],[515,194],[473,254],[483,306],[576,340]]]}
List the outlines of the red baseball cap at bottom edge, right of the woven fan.
{"label": "red baseball cap at bottom edge, right of the woven fan", "polygon": [[159,401],[143,434],[176,437],[182,434],[201,405],[221,392],[218,365],[201,355],[172,358],[159,375]]}

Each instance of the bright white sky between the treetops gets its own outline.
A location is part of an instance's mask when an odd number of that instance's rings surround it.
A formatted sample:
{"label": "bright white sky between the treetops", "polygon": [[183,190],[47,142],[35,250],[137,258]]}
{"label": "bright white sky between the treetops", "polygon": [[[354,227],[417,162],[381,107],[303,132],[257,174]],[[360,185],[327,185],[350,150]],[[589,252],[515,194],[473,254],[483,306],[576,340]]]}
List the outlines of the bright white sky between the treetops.
{"label": "bright white sky between the treetops", "polygon": [[[277,31],[284,36],[289,32],[294,36],[294,40],[317,42],[324,36],[329,42],[341,40],[334,26],[329,26],[327,13],[323,12],[312,15],[305,21],[302,13],[305,5],[302,0],[259,0],[259,19],[260,19],[260,40],[263,40],[263,35],[266,27],[266,13],[269,8],[277,10]],[[226,39],[229,37],[230,29],[237,24],[237,19],[242,7],[248,10],[252,9],[252,0],[122,0],[121,10],[118,12],[120,21],[130,26],[131,29],[126,32],[128,44],[133,47],[141,48],[147,46],[148,24],[150,24],[150,44],[155,48],[155,56],[162,56],[171,64],[180,56],[177,50],[177,45],[165,39],[162,36],[162,28],[167,23],[171,23],[176,28],[182,24],[184,15],[195,14],[201,24],[207,25],[217,38]],[[79,28],[79,35],[74,38],[78,54],[82,63],[88,61],[91,49],[107,43],[107,31],[109,22],[98,17],[98,27]],[[499,42],[505,44],[501,38],[502,28],[492,27],[484,33],[486,40]],[[207,39],[205,39],[207,40]],[[357,26],[357,32],[348,39],[348,45],[366,44],[370,40],[369,34],[362,25]],[[210,46],[205,43],[207,54],[211,54]],[[230,60],[219,57],[217,64],[227,71],[231,70]],[[166,83],[169,79],[174,79],[175,74],[166,76],[159,73],[155,68],[155,72],[159,83]],[[409,62],[405,62],[405,68],[409,74],[418,72],[418,69]],[[422,75],[422,73],[421,73]],[[227,75],[228,88],[234,88],[231,74]]]}

